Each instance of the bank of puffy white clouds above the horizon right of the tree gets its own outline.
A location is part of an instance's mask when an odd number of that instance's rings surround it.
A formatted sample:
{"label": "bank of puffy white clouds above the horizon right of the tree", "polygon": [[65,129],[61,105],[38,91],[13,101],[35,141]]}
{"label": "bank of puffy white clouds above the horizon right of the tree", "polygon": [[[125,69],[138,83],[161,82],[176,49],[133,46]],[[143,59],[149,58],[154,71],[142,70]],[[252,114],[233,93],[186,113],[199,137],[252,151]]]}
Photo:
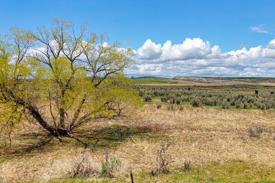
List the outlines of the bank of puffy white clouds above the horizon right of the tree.
{"label": "bank of puffy white clouds above the horizon right of the tree", "polygon": [[186,38],[182,44],[148,39],[134,52],[136,66],[128,73],[136,76],[275,76],[275,39],[230,52],[201,38]]}

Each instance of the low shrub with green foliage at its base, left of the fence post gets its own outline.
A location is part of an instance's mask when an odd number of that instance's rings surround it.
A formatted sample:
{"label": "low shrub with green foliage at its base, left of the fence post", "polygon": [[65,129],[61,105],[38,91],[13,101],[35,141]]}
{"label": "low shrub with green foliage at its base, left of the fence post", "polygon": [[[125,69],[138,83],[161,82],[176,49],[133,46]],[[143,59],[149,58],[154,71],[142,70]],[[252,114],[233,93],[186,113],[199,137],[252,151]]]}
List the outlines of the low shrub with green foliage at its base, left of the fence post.
{"label": "low shrub with green foliage at its base, left of the fence post", "polygon": [[123,169],[123,163],[115,157],[110,157],[108,150],[104,152],[105,160],[101,161],[101,177],[113,178]]}

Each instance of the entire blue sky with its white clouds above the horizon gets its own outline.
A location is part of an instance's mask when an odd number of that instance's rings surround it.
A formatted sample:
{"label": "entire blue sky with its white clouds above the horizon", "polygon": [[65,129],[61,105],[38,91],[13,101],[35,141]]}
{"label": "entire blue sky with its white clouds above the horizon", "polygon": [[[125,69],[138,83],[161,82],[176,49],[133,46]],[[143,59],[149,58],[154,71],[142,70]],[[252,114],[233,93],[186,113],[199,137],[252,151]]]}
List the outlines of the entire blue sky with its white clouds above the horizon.
{"label": "entire blue sky with its white clouds above the horizon", "polygon": [[0,34],[62,16],[133,49],[129,75],[275,77],[274,7],[274,0],[2,0]]}

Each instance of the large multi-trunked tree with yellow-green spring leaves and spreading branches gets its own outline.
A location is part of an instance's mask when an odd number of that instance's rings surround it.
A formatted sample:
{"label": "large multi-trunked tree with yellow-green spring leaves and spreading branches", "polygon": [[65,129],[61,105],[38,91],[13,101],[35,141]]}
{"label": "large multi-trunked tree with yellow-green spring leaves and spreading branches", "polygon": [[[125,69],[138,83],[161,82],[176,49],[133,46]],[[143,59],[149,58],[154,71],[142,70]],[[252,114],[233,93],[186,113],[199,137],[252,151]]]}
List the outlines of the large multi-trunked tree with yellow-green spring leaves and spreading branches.
{"label": "large multi-trunked tree with yellow-green spring leaves and spreading branches", "polygon": [[38,123],[54,136],[98,118],[130,115],[141,104],[124,71],[133,51],[106,34],[76,31],[55,18],[31,32],[9,29],[0,41],[0,120],[10,132],[21,122]]}

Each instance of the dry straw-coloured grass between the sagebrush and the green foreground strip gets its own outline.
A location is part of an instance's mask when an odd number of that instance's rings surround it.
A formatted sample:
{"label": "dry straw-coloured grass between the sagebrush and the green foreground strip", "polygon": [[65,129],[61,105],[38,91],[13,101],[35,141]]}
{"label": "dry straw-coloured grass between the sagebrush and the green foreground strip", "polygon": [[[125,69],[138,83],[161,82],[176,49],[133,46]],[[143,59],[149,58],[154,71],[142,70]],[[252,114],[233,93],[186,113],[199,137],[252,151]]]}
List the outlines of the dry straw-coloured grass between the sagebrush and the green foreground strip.
{"label": "dry straw-coloured grass between the sagebrush and the green foreground strip", "polygon": [[[171,171],[183,167],[186,160],[190,160],[194,167],[226,167],[230,162],[238,161],[245,164],[247,170],[275,170],[275,141],[272,135],[275,124],[274,111],[271,110],[185,107],[182,111],[167,111],[166,107],[156,109],[154,105],[145,105],[130,120],[101,120],[86,124],[83,130],[102,129],[105,125],[142,127],[152,131],[147,135],[129,135],[116,145],[115,141],[106,141],[104,135],[98,136],[90,146],[89,156],[97,168],[101,167],[102,146],[107,144],[110,153],[124,163],[125,173],[130,169],[134,172],[149,171],[155,167],[156,151],[162,138],[169,137],[175,142],[174,146],[167,149],[175,161]],[[262,138],[248,137],[246,129],[251,125],[265,128]],[[42,135],[34,138],[35,135],[28,131],[41,131]],[[0,179],[64,177],[71,169],[72,162],[84,156],[85,146],[69,138],[63,138],[63,142],[53,138],[42,145],[43,148],[17,153],[18,149],[30,147],[26,143],[37,144],[43,134],[42,129],[33,129],[32,126],[20,134],[13,134],[11,150],[0,149]],[[2,142],[5,140],[5,137],[1,137]],[[124,174],[120,176],[123,178]],[[274,173],[269,176],[275,178]]]}

